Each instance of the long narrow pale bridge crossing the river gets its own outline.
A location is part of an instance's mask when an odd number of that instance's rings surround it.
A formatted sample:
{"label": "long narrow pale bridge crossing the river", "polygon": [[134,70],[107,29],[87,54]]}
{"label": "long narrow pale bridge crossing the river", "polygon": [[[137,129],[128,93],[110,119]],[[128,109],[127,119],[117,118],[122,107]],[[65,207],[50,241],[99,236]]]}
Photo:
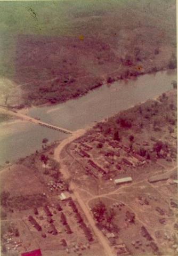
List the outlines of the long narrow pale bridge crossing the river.
{"label": "long narrow pale bridge crossing the river", "polygon": [[16,117],[18,117],[18,118],[20,118],[24,121],[28,121],[28,122],[31,122],[31,123],[34,123],[34,124],[37,124],[37,125],[41,125],[41,126],[44,126],[48,129],[63,132],[63,133],[66,133],[66,134],[72,134],[72,131],[69,131],[67,129],[64,129],[62,127],[58,127],[58,126],[55,126],[55,125],[52,125],[52,124],[45,123],[43,121],[39,121],[39,120],[37,120],[33,117],[27,116],[25,114],[21,114],[21,113],[15,111],[15,110],[7,109],[4,106],[0,106],[0,110],[1,110],[1,112],[4,112],[4,114],[11,115],[11,116],[16,116]]}

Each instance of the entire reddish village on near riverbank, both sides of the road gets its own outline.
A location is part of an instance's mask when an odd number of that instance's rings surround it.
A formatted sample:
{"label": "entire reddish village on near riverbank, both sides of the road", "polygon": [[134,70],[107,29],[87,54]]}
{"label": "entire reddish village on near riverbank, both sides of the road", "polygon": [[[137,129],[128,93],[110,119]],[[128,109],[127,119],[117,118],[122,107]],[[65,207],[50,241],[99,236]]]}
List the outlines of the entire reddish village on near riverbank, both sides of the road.
{"label": "entire reddish village on near riverbank, both sides of the road", "polygon": [[[58,143],[47,146],[44,138],[42,150],[7,164],[6,173],[13,175],[1,193],[2,252],[98,255],[99,232],[113,255],[161,255],[163,250],[176,255],[174,90],[96,124],[64,146],[59,163],[54,159]],[[163,116],[168,107],[169,118]],[[144,129],[131,119],[133,113],[140,113]],[[25,186],[14,190],[18,177]],[[88,214],[94,222],[88,222]]]}

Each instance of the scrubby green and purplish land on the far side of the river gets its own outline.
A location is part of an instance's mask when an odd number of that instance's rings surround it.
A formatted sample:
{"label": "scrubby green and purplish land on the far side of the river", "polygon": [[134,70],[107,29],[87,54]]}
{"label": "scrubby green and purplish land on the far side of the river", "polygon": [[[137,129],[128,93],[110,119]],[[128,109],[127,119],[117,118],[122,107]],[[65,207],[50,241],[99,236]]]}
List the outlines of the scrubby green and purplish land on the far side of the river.
{"label": "scrubby green and purplish land on the far side of the river", "polygon": [[[116,80],[168,68],[176,49],[175,3],[4,1],[1,76],[28,83],[22,86],[23,101],[41,105],[83,95],[100,86],[104,75]],[[69,76],[75,81],[64,84]]]}

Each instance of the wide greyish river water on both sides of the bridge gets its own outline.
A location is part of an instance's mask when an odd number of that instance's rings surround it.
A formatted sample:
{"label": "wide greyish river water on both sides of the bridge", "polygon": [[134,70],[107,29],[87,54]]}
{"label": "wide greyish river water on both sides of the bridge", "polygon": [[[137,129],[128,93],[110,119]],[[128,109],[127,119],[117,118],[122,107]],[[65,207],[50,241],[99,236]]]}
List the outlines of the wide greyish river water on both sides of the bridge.
{"label": "wide greyish river water on both sides of the bridge", "polygon": [[[160,71],[138,77],[127,83],[117,81],[110,87],[103,85],[85,96],[55,106],[33,107],[27,112],[31,117],[72,131],[84,129],[96,121],[117,114],[137,103],[157,97],[172,89],[176,72]],[[15,161],[42,147],[43,138],[50,142],[69,135],[37,126],[29,122],[9,122],[0,126],[0,164]]]}

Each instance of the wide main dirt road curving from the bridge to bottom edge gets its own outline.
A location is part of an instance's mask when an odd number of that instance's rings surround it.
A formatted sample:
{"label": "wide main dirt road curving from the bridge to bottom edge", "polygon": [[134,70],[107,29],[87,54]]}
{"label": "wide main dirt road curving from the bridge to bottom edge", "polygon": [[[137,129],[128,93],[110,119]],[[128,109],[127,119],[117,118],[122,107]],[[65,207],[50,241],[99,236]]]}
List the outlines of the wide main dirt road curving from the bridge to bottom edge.
{"label": "wide main dirt road curving from the bridge to bottom edge", "polygon": [[[85,130],[78,130],[78,131],[74,132],[71,137],[69,137],[67,139],[64,139],[54,151],[54,159],[57,162],[60,162],[60,165],[61,165],[60,171],[63,174],[64,179],[70,178],[70,174],[67,170],[66,165],[64,165],[63,161],[60,161],[61,151],[66,145],[68,145],[68,143],[70,143],[73,140],[81,137],[85,132],[86,132]],[[100,244],[104,248],[105,255],[106,256],[113,256],[114,252],[112,251],[111,247],[109,246],[107,238],[103,236],[102,232],[98,228],[96,228],[95,222],[94,222],[93,217],[92,217],[92,214],[91,214],[90,210],[87,208],[87,206],[84,203],[84,201],[82,200],[82,198],[80,197],[80,195],[77,191],[77,187],[76,187],[74,182],[70,182],[70,188],[72,189],[75,198],[77,199],[77,201],[78,201],[80,207],[82,208],[90,226],[92,227],[92,229],[94,231],[94,234],[96,235],[96,237],[98,238],[98,241],[100,242]]]}

